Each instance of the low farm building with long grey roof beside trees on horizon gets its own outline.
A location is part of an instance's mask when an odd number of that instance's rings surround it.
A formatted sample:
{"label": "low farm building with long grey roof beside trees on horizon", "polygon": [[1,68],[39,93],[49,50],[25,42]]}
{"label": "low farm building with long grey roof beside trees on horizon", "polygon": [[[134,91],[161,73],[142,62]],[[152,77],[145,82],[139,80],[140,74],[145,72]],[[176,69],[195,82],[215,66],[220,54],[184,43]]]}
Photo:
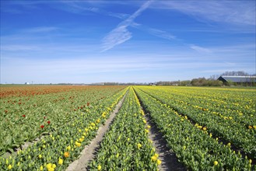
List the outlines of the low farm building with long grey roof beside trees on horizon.
{"label": "low farm building with long grey roof beside trees on horizon", "polygon": [[223,83],[255,84],[256,76],[220,76],[218,80]]}

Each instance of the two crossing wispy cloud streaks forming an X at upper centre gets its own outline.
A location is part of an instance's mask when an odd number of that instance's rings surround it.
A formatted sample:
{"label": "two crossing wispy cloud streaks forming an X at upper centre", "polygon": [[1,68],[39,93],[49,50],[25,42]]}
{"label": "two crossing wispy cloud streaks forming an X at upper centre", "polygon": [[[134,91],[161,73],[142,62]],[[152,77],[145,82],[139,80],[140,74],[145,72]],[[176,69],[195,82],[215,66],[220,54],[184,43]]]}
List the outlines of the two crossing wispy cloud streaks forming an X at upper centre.
{"label": "two crossing wispy cloud streaks forming an X at upper centre", "polygon": [[[103,9],[99,9],[96,7],[85,7],[83,5],[79,5],[77,2],[66,2],[64,1],[66,5],[71,6],[72,8],[76,9],[77,11],[82,14],[83,11],[89,11],[89,12],[95,12],[104,16],[113,16],[118,19],[125,19],[122,23],[120,23],[114,30],[111,30],[110,33],[106,37],[103,38],[103,51],[107,51],[117,44],[122,44],[125,41],[132,38],[132,33],[128,31],[127,27],[132,26],[136,29],[143,30],[146,33],[149,33],[155,37],[160,37],[166,40],[178,40],[177,37],[172,35],[171,33],[167,33],[164,30],[159,30],[156,28],[151,28],[149,26],[143,26],[142,24],[135,23],[134,19],[140,15],[140,13],[149,7],[150,3],[152,1],[146,2],[143,4],[139,10],[137,10],[134,14],[128,15],[124,13],[117,13],[117,12],[109,12]],[[93,5],[95,5],[95,2],[92,2]],[[100,4],[104,4],[106,2],[96,2]],[[109,2],[111,3],[111,2]],[[115,3],[121,3],[121,2],[114,2]],[[125,5],[128,5],[127,3],[123,2]],[[72,10],[74,12],[74,10]]]}

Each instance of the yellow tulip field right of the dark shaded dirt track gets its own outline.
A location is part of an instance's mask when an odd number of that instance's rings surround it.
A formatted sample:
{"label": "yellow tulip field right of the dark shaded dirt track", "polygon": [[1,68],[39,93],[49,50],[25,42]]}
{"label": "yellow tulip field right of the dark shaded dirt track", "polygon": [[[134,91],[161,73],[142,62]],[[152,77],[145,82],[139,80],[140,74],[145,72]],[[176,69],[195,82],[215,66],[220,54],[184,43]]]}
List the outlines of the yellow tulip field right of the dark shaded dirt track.
{"label": "yellow tulip field right of the dark shaded dirt track", "polygon": [[252,169],[256,159],[254,89],[148,86],[135,91],[188,169]]}

